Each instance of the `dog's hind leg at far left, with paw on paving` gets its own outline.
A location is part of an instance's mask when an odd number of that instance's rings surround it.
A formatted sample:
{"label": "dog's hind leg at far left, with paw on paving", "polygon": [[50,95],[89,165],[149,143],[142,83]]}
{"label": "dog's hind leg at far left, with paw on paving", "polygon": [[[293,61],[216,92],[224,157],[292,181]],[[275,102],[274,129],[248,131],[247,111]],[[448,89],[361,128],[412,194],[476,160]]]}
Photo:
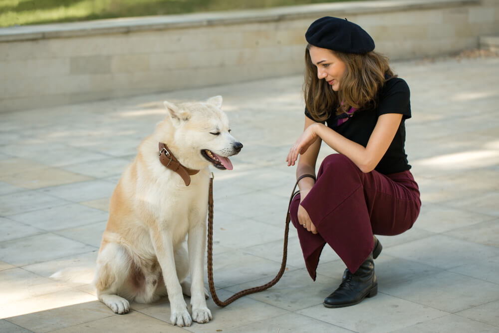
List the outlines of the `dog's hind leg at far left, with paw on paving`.
{"label": "dog's hind leg at far left, with paw on paving", "polygon": [[130,311],[130,303],[117,295],[130,275],[132,260],[126,250],[116,244],[107,244],[97,257],[94,286],[97,298],[117,314]]}

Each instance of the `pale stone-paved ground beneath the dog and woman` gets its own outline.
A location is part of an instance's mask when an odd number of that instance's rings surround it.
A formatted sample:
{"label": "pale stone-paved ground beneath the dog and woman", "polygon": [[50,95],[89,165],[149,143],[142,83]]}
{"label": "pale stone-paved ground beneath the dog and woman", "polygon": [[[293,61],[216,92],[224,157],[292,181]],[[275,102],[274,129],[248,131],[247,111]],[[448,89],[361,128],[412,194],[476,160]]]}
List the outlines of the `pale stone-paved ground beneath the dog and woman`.
{"label": "pale stone-paved ground beneath the dog and woman", "polygon": [[[92,267],[111,192],[164,99],[224,96],[243,143],[215,172],[218,294],[269,281],[279,268],[294,168],[284,159],[303,126],[302,78],[0,114],[1,332],[499,332],[499,58],[394,63],[412,91],[407,152],[423,207],[413,229],[380,237],[379,294],[326,309],[344,266],[325,249],[314,283],[294,228],[282,280],[180,329],[168,300],[114,315],[76,283],[49,276]],[[321,151],[321,157],[330,153]]]}

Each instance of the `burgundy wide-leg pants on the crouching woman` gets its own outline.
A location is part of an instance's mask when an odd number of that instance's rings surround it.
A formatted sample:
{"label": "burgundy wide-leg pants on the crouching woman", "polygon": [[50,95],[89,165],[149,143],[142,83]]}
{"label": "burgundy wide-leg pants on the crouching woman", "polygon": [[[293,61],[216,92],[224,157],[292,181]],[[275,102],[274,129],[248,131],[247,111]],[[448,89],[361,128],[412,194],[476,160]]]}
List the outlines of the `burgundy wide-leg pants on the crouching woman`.
{"label": "burgundy wide-leg pants on the crouching woman", "polygon": [[418,184],[410,171],[383,175],[363,173],[348,157],[327,156],[317,181],[301,203],[317,234],[298,223],[299,194],[291,202],[308,274],[315,281],[319,256],[327,243],[355,273],[374,248],[373,234],[398,235],[410,229],[419,215]]}

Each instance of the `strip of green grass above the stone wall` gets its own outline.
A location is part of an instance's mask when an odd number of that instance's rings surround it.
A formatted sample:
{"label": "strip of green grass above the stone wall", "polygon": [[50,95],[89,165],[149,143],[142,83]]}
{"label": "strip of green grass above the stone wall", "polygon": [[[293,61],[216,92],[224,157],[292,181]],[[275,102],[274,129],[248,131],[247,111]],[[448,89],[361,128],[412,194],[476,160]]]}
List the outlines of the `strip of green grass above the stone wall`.
{"label": "strip of green grass above the stone wall", "polygon": [[0,26],[348,0],[0,0]]}

